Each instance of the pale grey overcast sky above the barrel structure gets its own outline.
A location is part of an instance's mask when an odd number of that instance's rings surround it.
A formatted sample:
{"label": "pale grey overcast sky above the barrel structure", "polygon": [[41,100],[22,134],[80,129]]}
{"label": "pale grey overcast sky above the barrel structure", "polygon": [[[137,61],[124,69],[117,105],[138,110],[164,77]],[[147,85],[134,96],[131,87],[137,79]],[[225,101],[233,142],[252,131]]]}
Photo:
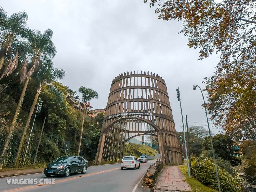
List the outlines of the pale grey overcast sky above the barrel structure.
{"label": "pale grey overcast sky above the barrel structure", "polygon": [[[149,71],[166,82],[176,131],[182,130],[177,87],[189,126],[207,128],[200,90],[192,87],[205,87],[201,82],[214,73],[218,56],[197,61],[199,50],[189,49],[188,37],[178,34],[181,22],[158,20],[155,8],[143,0],[9,0],[1,6],[9,15],[26,11],[27,26],[32,29],[53,30],[57,48],[53,61],[56,68],[66,71],[61,82],[74,90],[80,86],[96,90],[99,99],[91,101],[94,109],[106,106],[114,77],[127,71]],[[212,125],[216,134],[218,129]]]}

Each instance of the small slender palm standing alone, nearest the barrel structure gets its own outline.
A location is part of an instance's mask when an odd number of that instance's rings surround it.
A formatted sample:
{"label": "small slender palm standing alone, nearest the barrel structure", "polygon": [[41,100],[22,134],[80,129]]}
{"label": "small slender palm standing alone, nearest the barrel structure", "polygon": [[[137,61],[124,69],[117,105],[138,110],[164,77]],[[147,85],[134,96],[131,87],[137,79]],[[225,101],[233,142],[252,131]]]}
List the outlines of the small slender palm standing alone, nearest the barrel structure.
{"label": "small slender palm standing alone, nearest the barrel structure", "polygon": [[82,94],[82,102],[84,102],[84,109],[83,109],[83,120],[82,120],[81,134],[80,134],[80,141],[79,141],[79,145],[78,145],[77,155],[79,155],[79,153],[80,153],[80,147],[81,147],[82,136],[83,136],[83,123],[84,123],[85,114],[86,114],[87,101],[90,101],[91,99],[99,98],[98,93],[96,91],[92,90],[91,88],[86,88],[86,87],[81,86],[78,89],[78,92]]}

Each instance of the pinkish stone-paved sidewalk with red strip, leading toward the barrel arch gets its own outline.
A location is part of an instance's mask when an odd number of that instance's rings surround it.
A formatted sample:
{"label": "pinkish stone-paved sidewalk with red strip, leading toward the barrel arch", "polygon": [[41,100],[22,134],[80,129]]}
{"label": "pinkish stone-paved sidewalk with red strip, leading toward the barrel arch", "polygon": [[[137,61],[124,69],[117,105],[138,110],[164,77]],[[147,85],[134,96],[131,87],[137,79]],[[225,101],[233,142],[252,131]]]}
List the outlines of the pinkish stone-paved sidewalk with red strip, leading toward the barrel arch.
{"label": "pinkish stone-paved sidewalk with red strip, leading toward the barrel arch", "polygon": [[164,166],[156,184],[157,190],[167,191],[192,191],[185,176],[178,166]]}

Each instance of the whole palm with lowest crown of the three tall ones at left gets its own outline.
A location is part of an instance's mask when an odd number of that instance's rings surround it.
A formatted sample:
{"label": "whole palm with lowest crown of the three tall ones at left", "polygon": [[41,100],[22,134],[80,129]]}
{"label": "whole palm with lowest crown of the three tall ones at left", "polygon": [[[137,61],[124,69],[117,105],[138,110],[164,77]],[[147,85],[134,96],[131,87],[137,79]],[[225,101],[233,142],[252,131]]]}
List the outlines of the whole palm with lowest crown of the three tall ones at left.
{"label": "whole palm with lowest crown of the three tall ones at left", "polygon": [[38,73],[34,75],[35,80],[39,83],[39,88],[36,91],[36,95],[34,98],[34,101],[31,105],[31,109],[28,115],[28,119],[25,125],[25,128],[23,130],[22,138],[19,143],[18,152],[16,155],[14,167],[17,168],[19,166],[19,158],[22,151],[22,146],[24,143],[24,139],[27,133],[27,129],[29,127],[29,123],[33,114],[33,111],[35,109],[39,94],[41,93],[41,87],[42,85],[48,85],[47,88],[50,92],[52,92],[59,100],[62,100],[64,98],[64,95],[61,91],[59,91],[59,87],[54,85],[49,85],[54,80],[62,79],[65,76],[65,71],[63,69],[56,69],[54,68],[54,65],[50,58],[47,56],[42,56],[40,62],[39,62],[39,70]]}

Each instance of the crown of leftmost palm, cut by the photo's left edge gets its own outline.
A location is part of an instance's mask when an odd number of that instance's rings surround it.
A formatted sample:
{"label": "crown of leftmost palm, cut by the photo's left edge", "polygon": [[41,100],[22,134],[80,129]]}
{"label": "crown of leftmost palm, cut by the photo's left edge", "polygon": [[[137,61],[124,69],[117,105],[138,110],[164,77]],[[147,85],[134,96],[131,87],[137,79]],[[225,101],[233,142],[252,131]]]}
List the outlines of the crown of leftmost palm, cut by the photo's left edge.
{"label": "crown of leftmost palm, cut by the photo's left edge", "polygon": [[28,33],[31,33],[31,29],[26,28],[27,19],[28,15],[24,11],[13,13],[8,17],[7,12],[4,11],[3,7],[0,7],[0,70],[3,67],[7,55],[10,55],[10,60],[8,62],[8,68],[6,69],[12,70],[17,67],[19,56],[18,51],[16,51],[13,61],[11,56],[13,54],[12,52],[15,48],[15,44],[19,42],[19,38],[25,37]]}

